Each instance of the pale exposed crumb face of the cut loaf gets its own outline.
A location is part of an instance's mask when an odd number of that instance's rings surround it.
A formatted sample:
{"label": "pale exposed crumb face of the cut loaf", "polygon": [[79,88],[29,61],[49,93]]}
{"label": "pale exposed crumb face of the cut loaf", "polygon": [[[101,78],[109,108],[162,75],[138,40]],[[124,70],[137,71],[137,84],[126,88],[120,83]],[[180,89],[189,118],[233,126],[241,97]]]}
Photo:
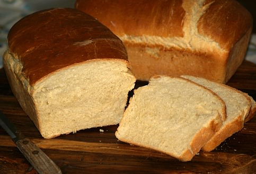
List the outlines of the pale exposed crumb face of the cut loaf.
{"label": "pale exposed crumb face of the cut loaf", "polygon": [[44,138],[118,124],[135,77],[127,62],[91,60],[42,79],[33,88]]}

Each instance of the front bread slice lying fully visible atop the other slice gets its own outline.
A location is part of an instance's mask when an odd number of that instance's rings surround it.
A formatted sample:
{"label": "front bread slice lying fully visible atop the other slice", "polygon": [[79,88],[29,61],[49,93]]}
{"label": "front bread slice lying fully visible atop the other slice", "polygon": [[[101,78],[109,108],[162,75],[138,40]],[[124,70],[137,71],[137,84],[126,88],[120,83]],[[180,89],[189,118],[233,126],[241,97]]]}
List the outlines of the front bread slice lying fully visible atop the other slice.
{"label": "front bread slice lying fully visible atop the other slice", "polygon": [[223,100],[211,90],[157,76],[134,91],[116,137],[189,161],[219,130],[224,115]]}

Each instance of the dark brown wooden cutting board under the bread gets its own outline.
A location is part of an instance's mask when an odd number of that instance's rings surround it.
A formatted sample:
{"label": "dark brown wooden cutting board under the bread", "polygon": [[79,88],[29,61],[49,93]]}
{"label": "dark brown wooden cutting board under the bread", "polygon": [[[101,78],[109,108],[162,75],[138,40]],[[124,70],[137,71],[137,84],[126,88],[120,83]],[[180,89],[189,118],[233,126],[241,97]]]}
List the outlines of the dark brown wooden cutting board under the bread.
{"label": "dark brown wooden cutting board under the bread", "polygon": [[[256,99],[256,65],[243,62],[227,85]],[[216,150],[200,151],[192,161],[180,162],[169,155],[118,141],[114,136],[118,125],[43,139],[13,96],[3,69],[0,109],[63,173],[256,173],[256,117]],[[0,173],[37,173],[1,127]]]}

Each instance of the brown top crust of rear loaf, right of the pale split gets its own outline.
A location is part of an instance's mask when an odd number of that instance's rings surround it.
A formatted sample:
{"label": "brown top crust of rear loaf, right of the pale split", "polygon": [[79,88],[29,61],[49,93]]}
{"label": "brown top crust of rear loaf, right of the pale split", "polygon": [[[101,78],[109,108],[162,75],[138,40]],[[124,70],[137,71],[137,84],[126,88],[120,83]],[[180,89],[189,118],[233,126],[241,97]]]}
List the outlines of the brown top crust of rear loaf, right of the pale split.
{"label": "brown top crust of rear loaf, right of the pale split", "polygon": [[234,0],[206,0],[210,4],[198,21],[202,35],[213,39],[220,47],[229,50],[252,28],[252,16]]}

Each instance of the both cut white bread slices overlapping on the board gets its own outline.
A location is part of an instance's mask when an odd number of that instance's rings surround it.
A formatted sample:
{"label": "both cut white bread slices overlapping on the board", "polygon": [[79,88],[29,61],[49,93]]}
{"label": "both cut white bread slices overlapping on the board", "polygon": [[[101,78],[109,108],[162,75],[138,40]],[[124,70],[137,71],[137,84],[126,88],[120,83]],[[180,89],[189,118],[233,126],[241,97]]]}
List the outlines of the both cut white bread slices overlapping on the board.
{"label": "both cut white bread slices overlapping on the board", "polygon": [[190,161],[240,131],[256,109],[247,94],[204,78],[155,76],[135,89],[119,124],[120,141]]}

